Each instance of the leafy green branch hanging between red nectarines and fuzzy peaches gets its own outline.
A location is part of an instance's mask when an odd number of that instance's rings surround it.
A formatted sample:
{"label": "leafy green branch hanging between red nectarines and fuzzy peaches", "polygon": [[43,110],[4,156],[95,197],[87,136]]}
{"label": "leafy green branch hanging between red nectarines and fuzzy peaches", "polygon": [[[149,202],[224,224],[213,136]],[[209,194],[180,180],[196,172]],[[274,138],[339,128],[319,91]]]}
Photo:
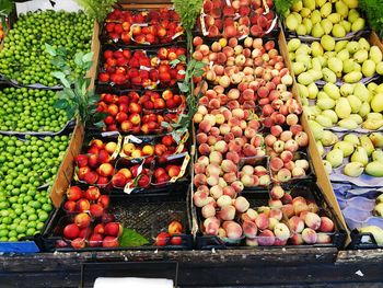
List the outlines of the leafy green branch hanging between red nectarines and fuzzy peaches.
{"label": "leafy green branch hanging between red nectarines and fuzzy peaches", "polygon": [[[171,65],[177,65],[179,62],[184,62],[185,60],[186,60],[186,57],[182,55],[177,59],[173,60]],[[199,99],[201,97],[202,93],[201,93],[201,90],[199,90],[197,95],[194,94],[193,78],[204,76],[205,67],[206,67],[205,62],[196,61],[195,59],[193,59],[187,64],[185,71],[179,71],[181,73],[185,73],[185,79],[183,82],[178,83],[178,88],[182,93],[185,93],[187,95],[186,96],[187,113],[181,113],[176,122],[173,122],[173,123],[163,122],[161,124],[162,127],[172,129],[171,134],[173,136],[173,139],[177,143],[181,141],[182,135],[184,135],[188,130],[193,122],[193,117],[198,110]]]}

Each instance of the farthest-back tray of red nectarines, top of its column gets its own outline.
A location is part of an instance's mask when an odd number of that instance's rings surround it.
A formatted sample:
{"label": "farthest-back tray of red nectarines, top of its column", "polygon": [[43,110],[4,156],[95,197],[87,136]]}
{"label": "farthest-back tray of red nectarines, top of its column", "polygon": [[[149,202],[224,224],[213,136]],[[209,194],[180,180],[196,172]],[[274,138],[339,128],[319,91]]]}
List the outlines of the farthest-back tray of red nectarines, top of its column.
{"label": "farthest-back tray of red nectarines, top of its column", "polygon": [[115,9],[104,24],[106,38],[125,45],[169,44],[179,38],[184,28],[172,9],[131,11]]}

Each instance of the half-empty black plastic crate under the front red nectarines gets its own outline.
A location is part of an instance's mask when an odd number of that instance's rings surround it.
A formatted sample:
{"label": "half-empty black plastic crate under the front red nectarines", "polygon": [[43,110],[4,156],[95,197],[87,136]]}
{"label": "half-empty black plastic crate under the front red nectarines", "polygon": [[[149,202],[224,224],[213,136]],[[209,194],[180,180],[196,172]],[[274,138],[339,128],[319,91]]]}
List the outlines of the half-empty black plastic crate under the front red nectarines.
{"label": "half-empty black plastic crate under the front red nectarines", "polygon": [[[149,240],[148,245],[143,246],[119,246],[119,247],[84,247],[74,250],[72,247],[57,247],[56,243],[62,240],[60,235],[54,235],[61,217],[66,216],[66,211],[61,207],[55,212],[53,219],[46,227],[43,241],[44,250],[46,252],[61,251],[113,251],[113,250],[190,250],[193,249],[193,238],[190,234],[190,217],[189,207],[186,203],[188,192],[177,191],[175,193],[164,195],[156,195],[153,197],[127,197],[125,195],[111,195],[111,205],[107,211],[115,216],[116,221],[120,222],[123,227],[136,230]],[[184,234],[181,234],[181,245],[153,245],[154,238],[161,231],[167,229],[167,224],[172,220],[178,220],[184,227]]]}

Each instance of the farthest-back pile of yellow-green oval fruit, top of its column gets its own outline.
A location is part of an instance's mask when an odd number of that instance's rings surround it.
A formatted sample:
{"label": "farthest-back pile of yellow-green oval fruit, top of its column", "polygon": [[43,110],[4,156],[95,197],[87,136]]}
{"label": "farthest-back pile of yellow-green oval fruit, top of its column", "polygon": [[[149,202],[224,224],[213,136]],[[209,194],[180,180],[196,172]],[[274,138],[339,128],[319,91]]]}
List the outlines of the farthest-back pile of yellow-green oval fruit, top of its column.
{"label": "farthest-back pile of yellow-green oval fruit, top of its column", "polygon": [[302,0],[297,1],[288,14],[285,24],[298,35],[323,35],[345,37],[349,32],[364,28],[365,21],[360,16],[358,0]]}

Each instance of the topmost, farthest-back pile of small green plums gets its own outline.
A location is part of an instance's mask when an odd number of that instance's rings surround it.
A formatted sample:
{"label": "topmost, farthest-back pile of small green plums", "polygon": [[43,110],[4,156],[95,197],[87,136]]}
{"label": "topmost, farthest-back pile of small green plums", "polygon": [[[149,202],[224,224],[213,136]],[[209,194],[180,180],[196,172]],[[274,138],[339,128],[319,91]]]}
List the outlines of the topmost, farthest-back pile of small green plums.
{"label": "topmost, farthest-back pile of small green plums", "polygon": [[[55,87],[58,80],[51,72],[57,68],[50,62],[51,56],[45,44],[65,47],[69,59],[72,59],[77,51],[91,49],[92,33],[93,21],[83,12],[47,10],[22,14],[4,39],[0,73],[23,85],[39,83]],[[73,77],[84,74],[69,59],[67,65],[72,68]]]}

